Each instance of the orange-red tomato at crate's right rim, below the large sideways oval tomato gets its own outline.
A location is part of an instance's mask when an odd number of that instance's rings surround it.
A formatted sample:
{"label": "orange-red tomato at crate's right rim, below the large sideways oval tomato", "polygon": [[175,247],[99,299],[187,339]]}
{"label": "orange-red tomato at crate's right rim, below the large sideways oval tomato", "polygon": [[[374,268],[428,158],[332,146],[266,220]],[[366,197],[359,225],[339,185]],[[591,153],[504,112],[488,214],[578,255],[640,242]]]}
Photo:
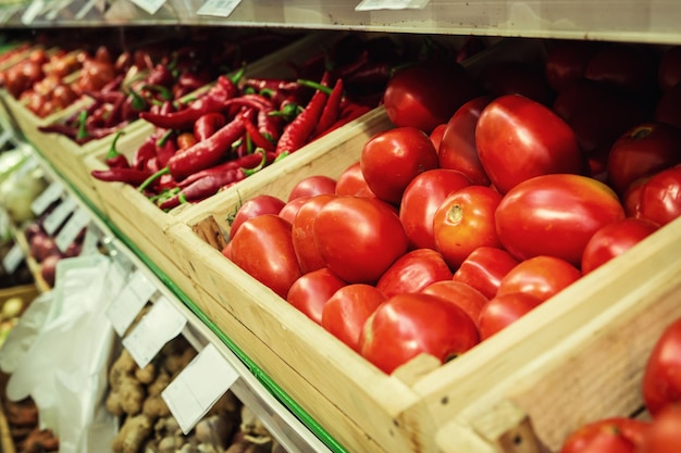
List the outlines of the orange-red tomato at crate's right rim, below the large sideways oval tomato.
{"label": "orange-red tomato at crate's right rim, below the large sideways oval tomato", "polygon": [[582,276],[580,269],[555,256],[534,256],[518,263],[502,279],[496,295],[523,292],[545,301]]}

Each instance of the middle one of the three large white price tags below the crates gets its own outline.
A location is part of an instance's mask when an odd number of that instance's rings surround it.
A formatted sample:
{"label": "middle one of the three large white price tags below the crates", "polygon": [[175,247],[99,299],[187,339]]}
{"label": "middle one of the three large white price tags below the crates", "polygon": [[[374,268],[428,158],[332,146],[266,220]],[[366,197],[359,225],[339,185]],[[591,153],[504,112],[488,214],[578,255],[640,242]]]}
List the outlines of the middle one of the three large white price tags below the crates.
{"label": "middle one of the three large white price tags below the crates", "polygon": [[135,363],[144,368],[165,343],[179,335],[186,324],[184,315],[168,299],[161,297],[123,339],[123,345]]}

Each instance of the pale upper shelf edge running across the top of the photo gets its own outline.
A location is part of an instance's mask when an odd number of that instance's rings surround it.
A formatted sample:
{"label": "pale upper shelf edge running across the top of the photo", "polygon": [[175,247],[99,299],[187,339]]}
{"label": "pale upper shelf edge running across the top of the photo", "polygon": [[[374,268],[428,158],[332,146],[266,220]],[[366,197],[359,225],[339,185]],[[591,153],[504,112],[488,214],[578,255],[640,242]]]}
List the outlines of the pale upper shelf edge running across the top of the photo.
{"label": "pale upper shelf edge running across the top of the photo", "polygon": [[[677,22],[681,3],[677,0],[433,0],[422,9],[372,11],[356,11],[359,0],[206,2],[216,4],[215,15],[203,14],[200,11],[203,3],[199,0],[32,0],[4,3],[0,8],[0,23],[4,27],[257,25],[681,43]],[[233,7],[233,10],[225,10],[225,5]]]}

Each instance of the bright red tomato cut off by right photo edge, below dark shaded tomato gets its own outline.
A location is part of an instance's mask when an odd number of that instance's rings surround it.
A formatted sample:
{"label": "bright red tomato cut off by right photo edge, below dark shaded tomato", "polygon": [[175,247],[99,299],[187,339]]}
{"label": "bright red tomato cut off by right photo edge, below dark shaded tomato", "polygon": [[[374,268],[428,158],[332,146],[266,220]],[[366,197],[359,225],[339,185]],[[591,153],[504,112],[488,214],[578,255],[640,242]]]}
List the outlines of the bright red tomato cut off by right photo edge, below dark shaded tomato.
{"label": "bright red tomato cut off by right photo edge, below dark shaded tomato", "polygon": [[637,216],[665,226],[681,215],[681,166],[651,176],[642,183]]}

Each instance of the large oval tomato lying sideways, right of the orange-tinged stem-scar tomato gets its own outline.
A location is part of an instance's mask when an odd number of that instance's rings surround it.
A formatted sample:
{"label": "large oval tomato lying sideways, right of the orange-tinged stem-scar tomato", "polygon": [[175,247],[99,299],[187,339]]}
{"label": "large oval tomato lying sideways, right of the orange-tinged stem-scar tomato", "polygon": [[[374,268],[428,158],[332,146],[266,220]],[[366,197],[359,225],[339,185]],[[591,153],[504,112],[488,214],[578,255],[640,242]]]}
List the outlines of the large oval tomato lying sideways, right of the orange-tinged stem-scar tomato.
{"label": "large oval tomato lying sideways, right of the orange-tinged stem-scar tomato", "polygon": [[594,232],[624,218],[624,209],[612,189],[595,179],[544,175],[509,191],[495,217],[502,244],[517,260],[552,255],[579,266]]}

